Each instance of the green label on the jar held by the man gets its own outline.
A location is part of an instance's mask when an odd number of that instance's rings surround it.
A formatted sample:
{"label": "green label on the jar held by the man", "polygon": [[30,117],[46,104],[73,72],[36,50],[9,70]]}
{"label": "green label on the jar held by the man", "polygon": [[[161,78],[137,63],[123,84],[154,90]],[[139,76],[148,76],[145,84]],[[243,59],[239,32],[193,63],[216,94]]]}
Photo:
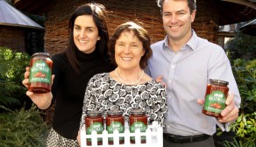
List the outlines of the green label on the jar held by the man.
{"label": "green label on the jar held by the man", "polygon": [[220,114],[225,108],[225,95],[221,91],[214,91],[210,95],[206,95],[203,109]]}

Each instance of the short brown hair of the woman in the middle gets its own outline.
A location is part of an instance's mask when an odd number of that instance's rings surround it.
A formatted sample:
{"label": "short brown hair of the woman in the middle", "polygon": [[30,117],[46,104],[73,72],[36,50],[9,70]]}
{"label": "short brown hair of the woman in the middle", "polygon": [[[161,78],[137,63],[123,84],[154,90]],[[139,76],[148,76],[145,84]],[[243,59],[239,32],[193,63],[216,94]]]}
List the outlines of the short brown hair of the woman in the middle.
{"label": "short brown hair of the woman in the middle", "polygon": [[134,35],[137,38],[139,38],[139,40],[142,42],[143,50],[145,50],[145,54],[141,57],[139,61],[139,66],[141,69],[145,69],[147,66],[147,60],[152,56],[152,50],[150,48],[151,40],[148,35],[148,32],[143,27],[133,22],[127,22],[122,25],[119,25],[117,26],[117,29],[114,31],[109,41],[110,61],[117,66],[117,63],[115,60],[115,45],[116,45],[117,39],[120,37],[121,33],[124,31],[133,31]]}

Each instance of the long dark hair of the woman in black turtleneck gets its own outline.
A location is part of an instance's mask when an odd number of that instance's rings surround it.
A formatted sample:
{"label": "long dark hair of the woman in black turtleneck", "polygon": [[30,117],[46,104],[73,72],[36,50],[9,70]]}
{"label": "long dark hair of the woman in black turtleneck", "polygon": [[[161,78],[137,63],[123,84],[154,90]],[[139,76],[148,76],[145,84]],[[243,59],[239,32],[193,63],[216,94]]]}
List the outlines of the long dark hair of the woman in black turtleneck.
{"label": "long dark hair of the woman in black turtleneck", "polygon": [[76,73],[78,71],[79,61],[75,57],[75,52],[77,49],[74,41],[74,25],[75,19],[82,15],[90,15],[93,18],[94,23],[99,32],[100,40],[96,42],[96,52],[99,52],[99,56],[102,59],[107,59],[108,55],[108,41],[109,41],[109,32],[107,28],[107,22],[105,17],[106,9],[102,4],[84,4],[79,6],[71,15],[69,19],[68,25],[68,33],[69,33],[69,42],[68,42],[68,49],[65,51],[66,56],[70,64],[75,69]]}

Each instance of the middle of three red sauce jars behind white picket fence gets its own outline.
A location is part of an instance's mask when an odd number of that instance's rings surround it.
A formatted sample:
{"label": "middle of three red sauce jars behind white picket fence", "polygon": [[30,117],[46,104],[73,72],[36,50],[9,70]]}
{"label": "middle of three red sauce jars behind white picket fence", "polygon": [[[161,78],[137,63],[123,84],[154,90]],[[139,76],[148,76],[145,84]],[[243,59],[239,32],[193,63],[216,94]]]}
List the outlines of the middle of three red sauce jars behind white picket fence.
{"label": "middle of three red sauce jars behind white picket fence", "polygon": [[[114,130],[124,133],[124,116],[122,110],[108,111],[106,117],[106,126],[109,134],[113,134]],[[113,144],[113,137],[109,138],[109,144]],[[119,144],[124,144],[124,137],[119,137]]]}

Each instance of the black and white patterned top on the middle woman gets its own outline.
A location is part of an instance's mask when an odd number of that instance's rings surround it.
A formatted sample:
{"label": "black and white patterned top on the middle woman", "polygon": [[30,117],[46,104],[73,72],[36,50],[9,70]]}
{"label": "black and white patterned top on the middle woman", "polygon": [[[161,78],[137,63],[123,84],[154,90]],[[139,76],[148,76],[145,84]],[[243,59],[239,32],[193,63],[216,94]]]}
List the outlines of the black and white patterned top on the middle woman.
{"label": "black and white patterned top on the middle woman", "polygon": [[125,122],[131,109],[146,109],[147,116],[165,125],[167,118],[167,93],[155,80],[139,85],[124,85],[110,77],[109,73],[93,76],[86,88],[80,129],[87,111],[99,110],[106,116],[108,110],[123,110]]}

